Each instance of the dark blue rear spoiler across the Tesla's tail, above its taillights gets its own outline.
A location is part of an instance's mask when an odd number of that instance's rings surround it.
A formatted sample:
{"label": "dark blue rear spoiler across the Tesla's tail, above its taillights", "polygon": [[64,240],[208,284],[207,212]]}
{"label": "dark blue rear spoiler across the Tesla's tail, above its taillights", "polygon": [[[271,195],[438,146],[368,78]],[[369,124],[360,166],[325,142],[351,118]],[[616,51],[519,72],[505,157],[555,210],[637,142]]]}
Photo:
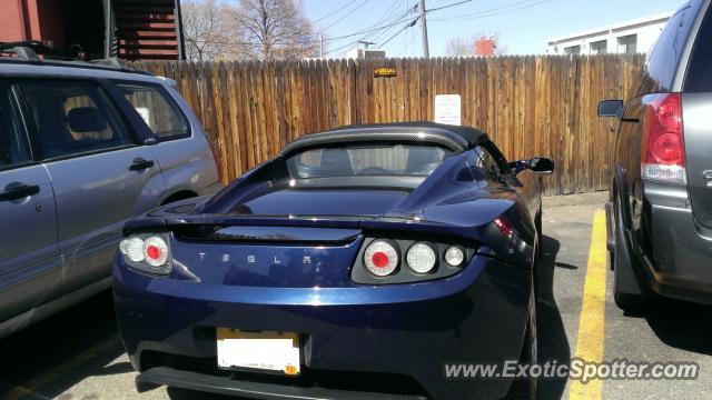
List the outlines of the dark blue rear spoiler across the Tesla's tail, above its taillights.
{"label": "dark blue rear spoiler across the Tesla's tail, above its taillights", "polygon": [[[230,216],[200,213],[207,198],[195,198],[174,203],[127,222],[123,234],[144,232],[176,232],[196,241],[259,241],[336,243],[363,236],[417,236],[442,238],[454,242],[485,246],[502,261],[528,268],[534,257],[536,237],[522,223],[512,201],[486,200],[485,212],[455,209],[457,212],[434,211],[429,216],[385,217],[285,217],[285,216]],[[446,207],[446,206],[443,206]],[[447,207],[449,208],[449,207]],[[195,211],[194,211],[195,210]],[[178,213],[176,211],[185,211]],[[192,212],[192,213],[191,213]],[[503,240],[493,220],[508,218],[517,234]],[[407,227],[407,228],[406,228]],[[315,228],[318,228],[316,230]],[[394,233],[388,233],[394,232]],[[514,241],[512,241],[514,240]],[[517,257],[516,253],[525,257]]]}

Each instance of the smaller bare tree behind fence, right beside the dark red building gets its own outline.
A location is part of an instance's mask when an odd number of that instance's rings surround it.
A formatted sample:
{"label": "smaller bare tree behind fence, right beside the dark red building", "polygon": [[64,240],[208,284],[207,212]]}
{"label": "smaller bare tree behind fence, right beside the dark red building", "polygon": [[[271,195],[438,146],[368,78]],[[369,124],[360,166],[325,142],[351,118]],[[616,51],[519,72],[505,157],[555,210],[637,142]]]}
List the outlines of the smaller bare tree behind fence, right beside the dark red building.
{"label": "smaller bare tree behind fence, right beside the dark red building", "polygon": [[181,4],[186,56],[190,60],[245,58],[244,28],[234,19],[237,9],[216,0],[188,0]]}

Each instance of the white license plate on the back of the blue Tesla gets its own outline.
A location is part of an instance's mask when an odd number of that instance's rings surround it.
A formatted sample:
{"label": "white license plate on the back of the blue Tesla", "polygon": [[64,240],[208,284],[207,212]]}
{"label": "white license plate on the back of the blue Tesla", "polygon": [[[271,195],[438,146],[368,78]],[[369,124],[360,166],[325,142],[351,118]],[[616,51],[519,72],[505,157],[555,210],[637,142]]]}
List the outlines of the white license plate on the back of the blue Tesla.
{"label": "white license plate on the back of the blue Tesla", "polygon": [[217,338],[219,368],[249,368],[293,377],[300,372],[297,333],[218,328]]}

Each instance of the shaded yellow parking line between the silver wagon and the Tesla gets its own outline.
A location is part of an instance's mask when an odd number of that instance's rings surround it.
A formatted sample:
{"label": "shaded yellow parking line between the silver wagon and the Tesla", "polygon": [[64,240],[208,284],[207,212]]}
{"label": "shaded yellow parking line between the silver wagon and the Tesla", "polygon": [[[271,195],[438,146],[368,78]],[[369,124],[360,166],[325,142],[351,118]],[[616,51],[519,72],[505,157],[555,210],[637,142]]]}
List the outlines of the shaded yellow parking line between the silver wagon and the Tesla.
{"label": "shaded yellow parking line between the silver wagon and the Tesla", "polygon": [[46,398],[43,394],[38,393],[37,390],[41,389],[42,387],[49,383],[52,383],[58,378],[61,378],[63,374],[68,373],[69,371],[82,366],[85,362],[91,360],[92,358],[103,354],[105,352],[109,351],[111,348],[113,348],[118,343],[119,343],[118,336],[112,336],[110,338],[107,338],[100,341],[99,343],[90,347],[89,349],[80,352],[79,354],[71,358],[70,360],[42,373],[41,376],[32,378],[20,384],[12,386],[12,388],[4,393],[0,392],[0,398],[2,398],[3,400],[18,400],[18,399],[28,397],[30,394]]}

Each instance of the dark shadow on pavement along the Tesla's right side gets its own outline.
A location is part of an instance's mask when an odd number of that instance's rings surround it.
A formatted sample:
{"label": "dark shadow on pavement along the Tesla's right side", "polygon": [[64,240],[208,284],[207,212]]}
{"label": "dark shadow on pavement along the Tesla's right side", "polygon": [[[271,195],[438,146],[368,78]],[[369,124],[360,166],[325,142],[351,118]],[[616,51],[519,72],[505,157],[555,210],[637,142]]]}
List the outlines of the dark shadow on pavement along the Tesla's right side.
{"label": "dark shadow on pavement along the Tesla's right side", "polygon": [[[537,328],[538,328],[538,360],[540,362],[556,360],[568,363],[571,349],[566,339],[564,322],[554,300],[554,273],[557,267],[576,269],[576,267],[558,266],[558,240],[544,236],[542,246],[542,259],[537,273]],[[538,382],[540,399],[561,399],[566,387],[565,378],[542,379]]]}

